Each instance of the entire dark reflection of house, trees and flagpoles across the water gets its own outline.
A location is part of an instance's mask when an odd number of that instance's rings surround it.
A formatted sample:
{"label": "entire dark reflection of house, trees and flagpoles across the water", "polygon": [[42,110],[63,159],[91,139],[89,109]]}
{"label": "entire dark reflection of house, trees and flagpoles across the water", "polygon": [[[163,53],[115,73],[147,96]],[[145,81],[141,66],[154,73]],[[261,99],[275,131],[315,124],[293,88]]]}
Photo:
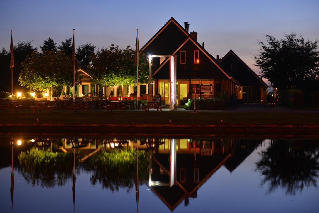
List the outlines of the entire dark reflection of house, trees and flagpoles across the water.
{"label": "entire dark reflection of house, trees and flagpoles across the water", "polygon": [[[189,198],[197,200],[199,188],[219,168],[224,167],[233,172],[261,144],[266,145],[266,148],[261,151],[260,158],[255,159],[253,167],[261,173],[262,184],[270,185],[269,192],[282,187],[286,189],[286,194],[295,194],[297,191],[301,192],[305,186],[316,187],[319,178],[317,141],[276,140],[265,144],[263,140],[233,138],[197,140],[74,137],[19,139],[20,145],[17,139],[13,141],[14,144],[0,145],[0,157],[5,153],[7,158],[3,159],[5,161],[1,166],[9,167],[11,164],[12,168],[12,207],[15,178],[13,169],[16,168],[32,186],[53,188],[64,186],[70,180],[73,210],[76,187],[83,186],[82,179],[87,182],[85,184],[101,185],[102,189],[109,189],[111,192],[121,189],[130,192],[135,186],[137,211],[139,187],[144,185],[157,196],[156,199],[173,211],[181,203],[188,206]],[[14,157],[19,165],[14,166]],[[90,180],[80,178],[77,181],[81,171],[89,173]],[[18,186],[16,185],[16,194]],[[77,200],[79,197],[81,196],[77,196]]]}

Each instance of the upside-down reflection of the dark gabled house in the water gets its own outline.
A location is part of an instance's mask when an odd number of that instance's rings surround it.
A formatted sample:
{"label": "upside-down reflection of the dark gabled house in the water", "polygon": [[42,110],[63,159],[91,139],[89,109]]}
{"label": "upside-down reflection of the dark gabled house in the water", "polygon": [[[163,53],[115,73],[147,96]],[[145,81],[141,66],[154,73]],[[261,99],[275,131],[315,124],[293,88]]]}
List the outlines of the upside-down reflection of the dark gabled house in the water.
{"label": "upside-down reflection of the dark gabled house in the water", "polygon": [[[261,143],[261,141],[220,139],[187,142],[188,139],[175,139],[177,140],[176,184],[169,187],[172,178],[170,172],[172,157],[167,140],[162,139],[164,142],[160,145],[162,148],[159,147],[158,152],[152,155],[149,185],[171,210],[183,200],[185,205],[188,205],[189,197],[196,198],[198,188],[222,165],[232,172]],[[183,146],[184,140],[186,146]]]}

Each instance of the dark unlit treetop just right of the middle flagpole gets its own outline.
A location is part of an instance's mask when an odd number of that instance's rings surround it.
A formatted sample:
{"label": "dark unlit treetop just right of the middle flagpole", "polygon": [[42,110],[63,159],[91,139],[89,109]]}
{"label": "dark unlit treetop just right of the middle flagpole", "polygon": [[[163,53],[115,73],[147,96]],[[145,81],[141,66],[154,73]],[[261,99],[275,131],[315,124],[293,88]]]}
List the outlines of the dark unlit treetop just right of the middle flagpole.
{"label": "dark unlit treetop just right of the middle flagpole", "polygon": [[90,57],[94,53],[95,46],[91,43],[81,44],[77,48],[76,58],[77,61],[80,63],[82,69],[87,70],[87,67],[90,65]]}

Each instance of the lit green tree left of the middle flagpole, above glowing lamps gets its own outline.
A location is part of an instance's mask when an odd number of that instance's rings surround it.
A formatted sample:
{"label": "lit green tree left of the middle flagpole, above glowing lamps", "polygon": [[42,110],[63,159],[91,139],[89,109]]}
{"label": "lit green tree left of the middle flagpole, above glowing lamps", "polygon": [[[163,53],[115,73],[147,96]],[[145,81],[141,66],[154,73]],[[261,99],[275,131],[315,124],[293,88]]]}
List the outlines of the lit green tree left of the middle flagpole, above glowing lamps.
{"label": "lit green tree left of the middle flagpole, above glowing lamps", "polygon": [[[80,83],[76,72],[76,84]],[[52,87],[61,87],[73,84],[72,60],[64,53],[52,51],[42,54],[33,52],[22,63],[22,72],[19,76],[20,85],[31,90],[45,91]]]}

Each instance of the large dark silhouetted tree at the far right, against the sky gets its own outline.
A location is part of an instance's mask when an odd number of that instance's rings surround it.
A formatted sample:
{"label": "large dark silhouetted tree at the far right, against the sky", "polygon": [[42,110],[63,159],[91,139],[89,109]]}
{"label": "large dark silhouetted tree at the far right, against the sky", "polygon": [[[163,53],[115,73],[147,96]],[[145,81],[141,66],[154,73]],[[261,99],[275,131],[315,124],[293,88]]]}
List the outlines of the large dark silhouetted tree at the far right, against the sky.
{"label": "large dark silhouetted tree at the far right, against the sky", "polygon": [[254,57],[261,77],[272,87],[285,90],[291,85],[305,89],[319,80],[318,40],[305,41],[297,34],[285,34],[279,40],[265,34],[267,44],[259,41],[259,54]]}

